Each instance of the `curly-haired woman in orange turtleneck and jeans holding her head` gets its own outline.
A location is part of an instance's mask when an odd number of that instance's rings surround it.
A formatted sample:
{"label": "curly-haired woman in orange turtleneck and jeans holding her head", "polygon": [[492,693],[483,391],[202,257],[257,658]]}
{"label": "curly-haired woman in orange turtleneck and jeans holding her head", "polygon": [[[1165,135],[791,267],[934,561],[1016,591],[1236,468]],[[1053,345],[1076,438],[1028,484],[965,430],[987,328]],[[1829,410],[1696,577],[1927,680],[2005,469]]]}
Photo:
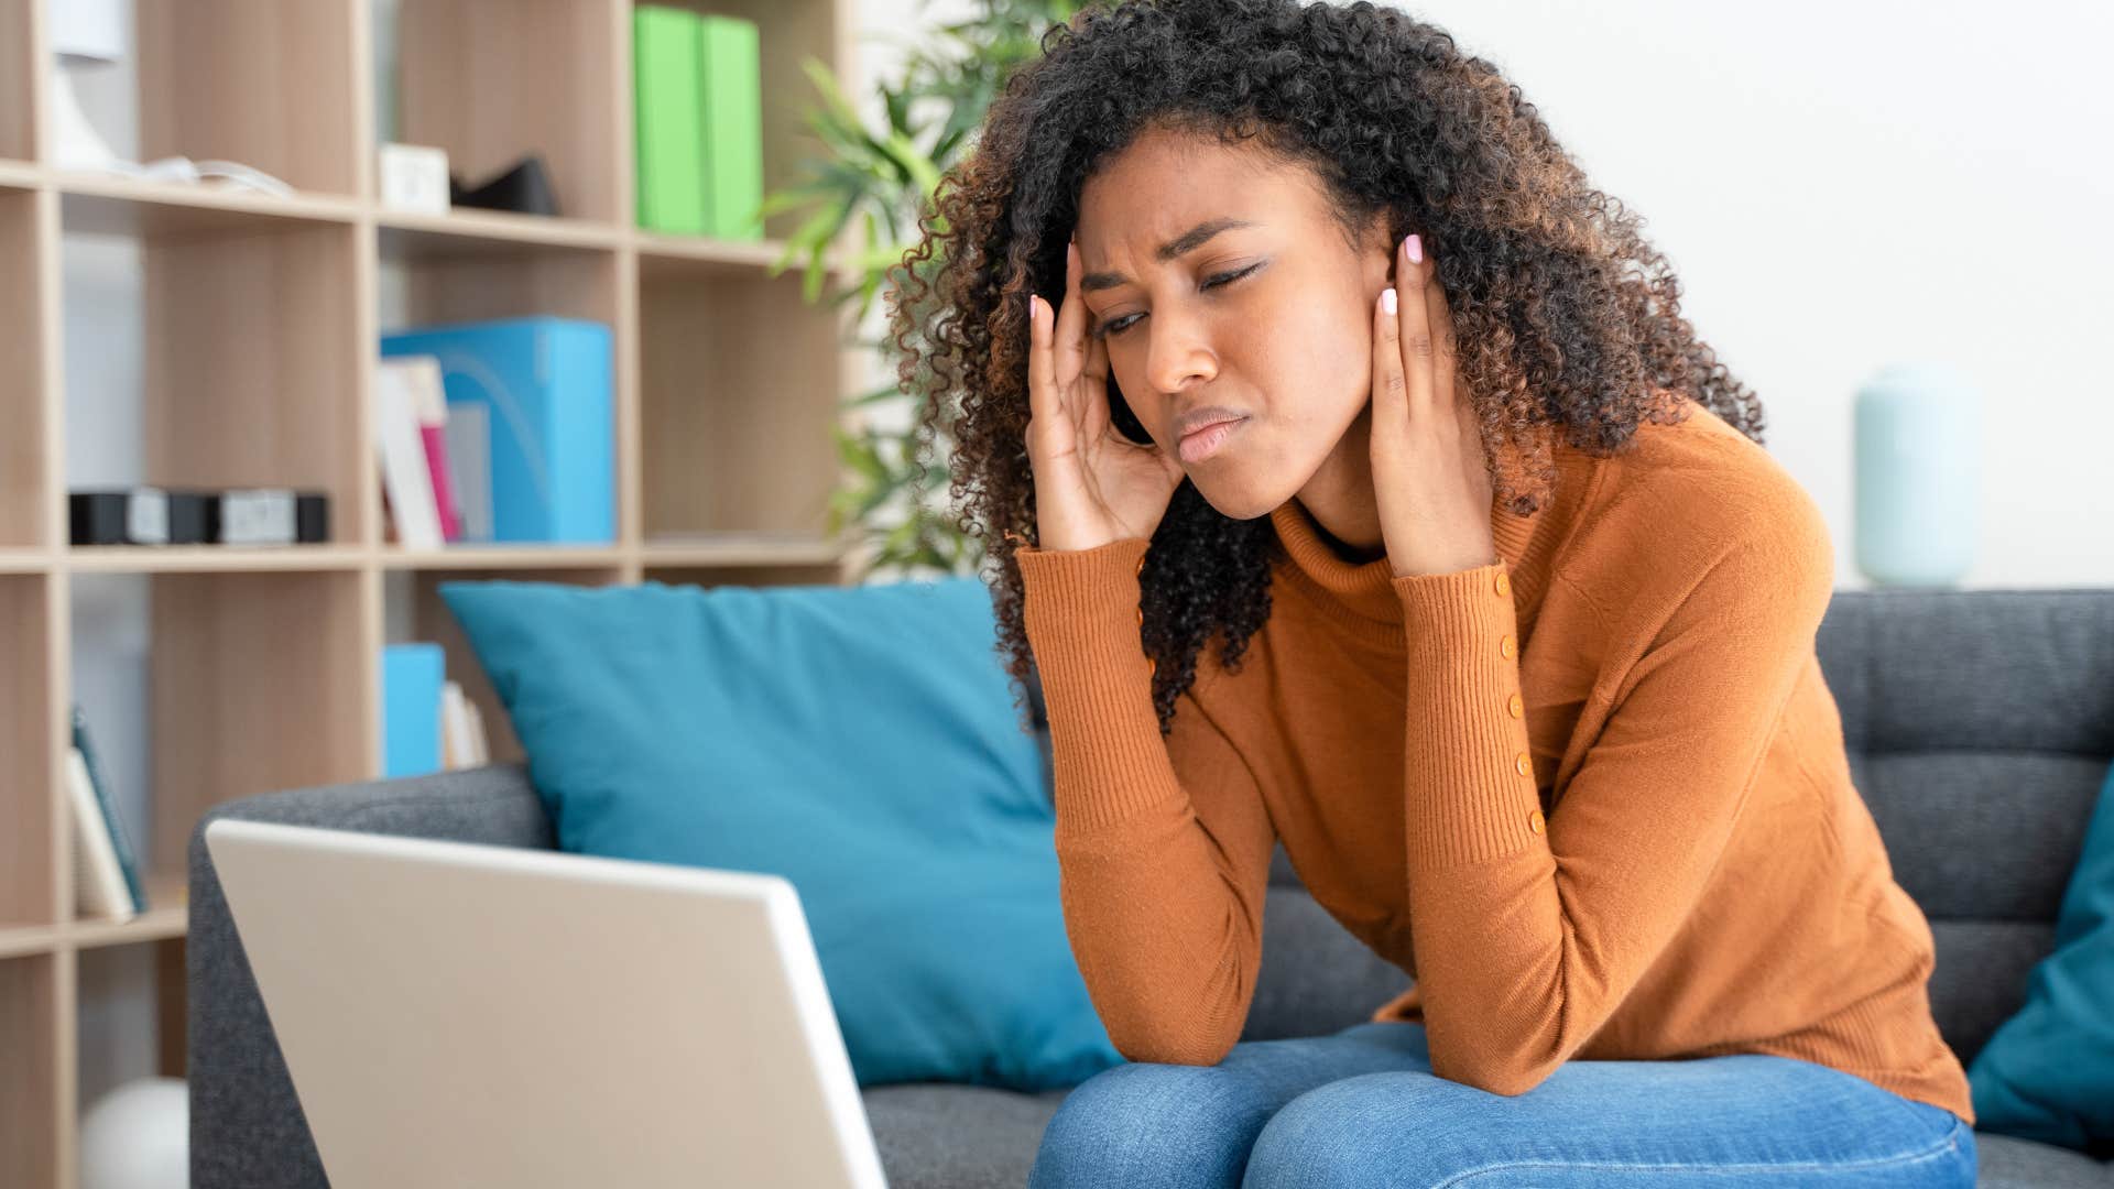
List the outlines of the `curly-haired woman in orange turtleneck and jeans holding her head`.
{"label": "curly-haired woman in orange turtleneck and jeans holding her head", "polygon": [[[1129,1058],[1032,1185],[1972,1185],[1826,525],[1636,218],[1402,13],[1044,51],[894,309]],[[1414,986],[1241,1043],[1277,842]]]}

